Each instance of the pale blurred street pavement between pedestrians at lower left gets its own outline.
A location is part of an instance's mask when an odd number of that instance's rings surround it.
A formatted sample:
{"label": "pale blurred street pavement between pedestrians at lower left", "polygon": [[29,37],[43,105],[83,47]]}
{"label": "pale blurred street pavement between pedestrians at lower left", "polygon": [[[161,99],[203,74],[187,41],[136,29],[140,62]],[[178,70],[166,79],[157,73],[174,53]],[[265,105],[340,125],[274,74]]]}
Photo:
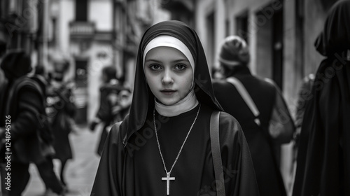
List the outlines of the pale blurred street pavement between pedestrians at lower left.
{"label": "pale blurred street pavement between pedestrians at lower left", "polygon": [[[69,192],[67,196],[90,195],[94,175],[99,165],[99,157],[95,153],[99,134],[102,127],[97,127],[95,132],[90,132],[87,127],[76,127],[76,132],[70,134],[73,160],[69,160],[66,166],[66,181]],[[59,161],[54,160],[55,172],[58,174]],[[29,172],[31,179],[27,185],[24,196],[43,195],[45,186],[38,175],[35,165],[31,165]],[[51,193],[50,195],[55,195]]]}

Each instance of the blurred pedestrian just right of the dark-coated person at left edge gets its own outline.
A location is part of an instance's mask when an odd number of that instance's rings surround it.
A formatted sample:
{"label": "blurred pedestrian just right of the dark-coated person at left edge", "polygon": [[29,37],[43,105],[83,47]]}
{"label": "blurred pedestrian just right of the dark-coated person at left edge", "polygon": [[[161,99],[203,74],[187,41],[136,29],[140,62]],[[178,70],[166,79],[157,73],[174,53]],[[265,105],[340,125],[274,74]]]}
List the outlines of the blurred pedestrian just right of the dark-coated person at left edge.
{"label": "blurred pedestrian just right of the dark-coated person at left edge", "polygon": [[69,134],[73,130],[72,124],[76,106],[72,94],[73,84],[70,81],[64,81],[64,74],[69,68],[69,62],[55,62],[55,66],[59,69],[50,74],[46,112],[55,138],[53,142],[55,155],[53,158],[61,162],[59,177],[62,184],[67,186],[64,179],[64,169],[66,168],[66,162],[73,158]]}

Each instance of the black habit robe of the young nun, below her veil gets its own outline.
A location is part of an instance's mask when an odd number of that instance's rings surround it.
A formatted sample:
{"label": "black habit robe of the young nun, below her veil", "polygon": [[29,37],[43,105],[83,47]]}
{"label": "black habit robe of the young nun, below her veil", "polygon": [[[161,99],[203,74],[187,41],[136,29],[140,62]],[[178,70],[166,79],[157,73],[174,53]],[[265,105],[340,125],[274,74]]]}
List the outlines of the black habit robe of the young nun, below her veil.
{"label": "black habit robe of the young nun, below her veil", "polygon": [[[171,118],[155,116],[168,170],[179,153],[198,107]],[[170,182],[170,195],[216,195],[209,136],[212,111],[204,104],[201,106],[193,130],[172,170],[171,176],[176,179]],[[125,133],[113,127],[106,140],[92,194],[165,195],[167,183],[161,178],[166,174],[153,131],[152,113],[146,122],[137,134],[132,135],[126,147],[123,146]],[[222,112],[219,127],[226,195],[258,195],[258,190],[252,187],[255,184],[253,165],[239,123]]]}

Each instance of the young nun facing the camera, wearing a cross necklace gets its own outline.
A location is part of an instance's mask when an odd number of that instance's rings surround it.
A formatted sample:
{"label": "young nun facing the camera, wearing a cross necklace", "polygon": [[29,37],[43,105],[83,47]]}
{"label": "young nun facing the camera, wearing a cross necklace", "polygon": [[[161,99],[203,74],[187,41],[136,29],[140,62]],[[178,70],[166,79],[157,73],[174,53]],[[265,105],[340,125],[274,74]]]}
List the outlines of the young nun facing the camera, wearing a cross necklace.
{"label": "young nun facing the camera, wearing a cross necklace", "polygon": [[179,21],[153,25],[139,45],[130,115],[109,132],[91,195],[258,195],[246,139],[228,113],[219,116],[221,153],[211,153],[211,114],[221,110],[196,32]]}

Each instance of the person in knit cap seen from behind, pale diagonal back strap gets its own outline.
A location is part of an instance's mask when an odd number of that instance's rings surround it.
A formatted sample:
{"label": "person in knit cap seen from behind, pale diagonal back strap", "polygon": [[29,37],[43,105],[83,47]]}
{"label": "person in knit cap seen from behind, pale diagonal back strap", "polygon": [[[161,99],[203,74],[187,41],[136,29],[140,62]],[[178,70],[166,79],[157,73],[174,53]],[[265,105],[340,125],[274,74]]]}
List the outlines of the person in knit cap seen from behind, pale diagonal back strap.
{"label": "person in knit cap seen from behind, pale diagonal back strap", "polygon": [[214,80],[216,99],[237,118],[251,152],[260,195],[286,195],[274,146],[288,143],[293,120],[272,80],[251,74],[249,52],[239,36],[228,36],[218,57],[222,80]]}

